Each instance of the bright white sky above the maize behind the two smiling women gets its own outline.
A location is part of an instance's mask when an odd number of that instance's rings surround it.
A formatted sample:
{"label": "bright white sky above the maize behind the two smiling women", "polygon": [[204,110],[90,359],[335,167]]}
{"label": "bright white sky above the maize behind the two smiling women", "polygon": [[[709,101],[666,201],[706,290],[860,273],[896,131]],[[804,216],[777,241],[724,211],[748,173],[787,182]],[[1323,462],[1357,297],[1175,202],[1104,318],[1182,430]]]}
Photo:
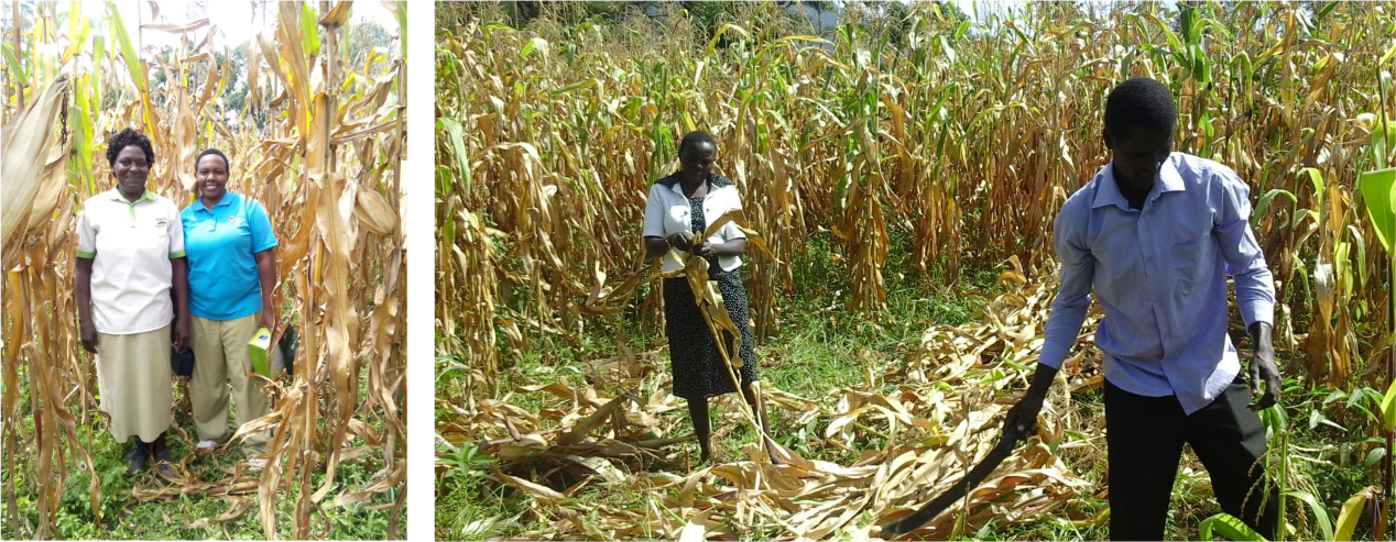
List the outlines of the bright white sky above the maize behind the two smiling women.
{"label": "bright white sky above the maize behind the two smiling women", "polygon": [[[265,26],[262,20],[262,8],[258,6],[255,13],[253,11],[253,3],[258,0],[207,0],[207,14],[198,15],[190,13],[191,1],[187,0],[156,0],[159,6],[159,18],[154,22],[156,24],[184,24],[188,21],[208,18],[211,24],[218,26],[222,35],[223,43],[232,49],[240,43],[247,43],[253,33]],[[398,22],[392,17],[388,8],[383,7],[383,0],[357,0],[353,3],[353,11],[349,17],[349,24],[355,24],[363,20],[373,20],[389,35],[396,33]],[[389,0],[391,1],[391,0]],[[63,4],[60,10],[66,10],[67,3]],[[91,17],[94,22],[103,17],[106,13],[106,6],[103,0],[81,0],[82,15]],[[121,21],[126,24],[126,29],[131,36],[131,45],[137,46],[137,39],[140,39],[140,46],[177,46],[179,33],[169,33],[162,31],[145,29],[137,32],[137,7],[140,7],[141,21],[151,24],[151,6],[149,0],[113,0],[116,10],[121,14]],[[336,4],[336,0],[331,0],[331,7]],[[320,1],[310,0],[310,7],[320,13]],[[276,22],[276,3],[275,0],[267,3],[267,20],[271,25]],[[322,14],[321,14],[322,15]],[[66,22],[64,22],[66,24]],[[191,40],[202,40],[205,29],[198,29],[190,35]]]}

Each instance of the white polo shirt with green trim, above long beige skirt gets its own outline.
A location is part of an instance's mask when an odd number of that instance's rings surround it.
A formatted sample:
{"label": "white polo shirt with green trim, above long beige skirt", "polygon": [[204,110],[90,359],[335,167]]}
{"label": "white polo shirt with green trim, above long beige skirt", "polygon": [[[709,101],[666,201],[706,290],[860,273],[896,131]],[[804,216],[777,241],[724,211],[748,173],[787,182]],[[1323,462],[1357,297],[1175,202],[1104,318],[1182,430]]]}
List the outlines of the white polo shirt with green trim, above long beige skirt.
{"label": "white polo shirt with green trim, above long beige skirt", "polygon": [[99,333],[131,334],[174,319],[170,258],[184,256],[184,227],[174,202],[145,191],[133,203],[116,188],[82,202],[78,258],[92,258],[92,323]]}

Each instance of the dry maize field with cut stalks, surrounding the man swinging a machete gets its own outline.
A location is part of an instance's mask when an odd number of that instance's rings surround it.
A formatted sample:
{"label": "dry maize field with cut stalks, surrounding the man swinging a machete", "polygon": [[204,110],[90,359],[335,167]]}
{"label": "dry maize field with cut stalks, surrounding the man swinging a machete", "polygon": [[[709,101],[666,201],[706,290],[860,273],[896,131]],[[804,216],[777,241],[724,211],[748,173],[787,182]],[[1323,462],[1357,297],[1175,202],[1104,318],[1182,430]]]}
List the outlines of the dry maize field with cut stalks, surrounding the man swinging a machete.
{"label": "dry maize field with cut stalks, surrounding the man swinging a machete", "polygon": [[[525,28],[438,13],[438,478],[458,468],[462,450],[487,457],[475,472],[526,503],[496,522],[514,538],[494,539],[875,536],[888,514],[914,510],[983,457],[1026,387],[1054,294],[1051,220],[1108,160],[1104,99],[1128,77],[1171,88],[1175,150],[1227,164],[1249,184],[1252,226],[1275,274],[1282,375],[1351,394],[1349,405],[1365,400],[1362,389],[1381,398],[1393,376],[1383,332],[1390,259],[1356,183],[1396,164],[1392,6],[1182,1],[1163,11],[1143,1],[1090,15],[1029,4],[1030,14],[986,22],[914,6],[895,39],[856,17],[814,35],[761,1],[741,4],[741,17],[711,36],[677,7],[614,24],[542,17]],[[775,470],[757,461],[752,439],[743,446],[750,457],[684,474],[674,444],[691,435],[678,426],[683,401],[667,394],[662,350],[618,341],[588,368],[542,380],[510,375],[529,353],[592,334],[662,333],[659,273],[644,259],[641,222],[649,185],[677,169],[677,141],[691,130],[718,139],[713,169],[737,185],[738,220],[758,241],[744,279],[759,337],[779,339],[797,320],[782,308],[812,237],[831,240],[836,311],[878,322],[888,318],[889,259],[948,284],[974,269],[1000,277],[976,322],[927,327],[903,359],[861,368],[863,385],[825,397],[764,386],[772,405],[793,412],[773,431],[814,424],[821,431],[810,439],[856,461],[799,457]],[[893,254],[896,233],[909,237],[905,254]],[[1103,419],[1067,407],[1068,394],[1101,382],[1090,347],[1097,318],[1058,376],[1068,385],[1057,390],[1068,392],[1048,403],[1041,442],[1100,435]],[[1240,322],[1234,311],[1231,319]],[[450,359],[447,372],[440,359]],[[1272,428],[1309,415],[1276,411]],[[1371,442],[1344,454],[1389,447],[1378,442],[1389,433],[1378,418],[1346,418]],[[730,421],[750,425],[750,415]],[[1275,431],[1272,449],[1283,433]],[[1382,453],[1349,465],[1371,486],[1336,503],[1316,499],[1291,461],[1333,456],[1276,457],[1289,536],[1360,539],[1351,538],[1360,522],[1358,536],[1382,539],[1378,474],[1390,464]],[[916,535],[969,536],[990,521],[1099,521],[1062,513],[1092,493],[1076,460],[1065,444],[1034,443]],[[655,496],[644,506],[592,497],[624,490]]]}

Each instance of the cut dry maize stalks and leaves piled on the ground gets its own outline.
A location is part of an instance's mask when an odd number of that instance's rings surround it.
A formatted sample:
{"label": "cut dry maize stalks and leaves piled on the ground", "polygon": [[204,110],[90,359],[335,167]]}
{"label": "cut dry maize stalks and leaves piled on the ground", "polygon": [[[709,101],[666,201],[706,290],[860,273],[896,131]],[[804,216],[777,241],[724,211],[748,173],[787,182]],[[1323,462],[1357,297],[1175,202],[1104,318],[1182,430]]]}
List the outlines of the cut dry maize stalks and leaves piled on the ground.
{"label": "cut dry maize stalks and leaves piled on the ground", "polygon": [[[824,397],[801,397],[761,383],[773,410],[793,414],[787,428],[815,422],[821,431],[808,439],[856,453],[852,464],[804,457],[782,446],[778,454],[785,464],[772,465],[752,438],[740,447],[745,457],[720,464],[715,457],[713,464],[695,468],[685,447],[676,446],[694,436],[680,433],[685,404],[670,393],[662,350],[625,350],[592,366],[581,380],[558,373],[557,382],[518,386],[501,398],[463,407],[437,400],[448,415],[437,424],[436,439],[451,447],[476,446],[496,458],[487,478],[511,488],[510,499],[529,499],[522,517],[501,525],[525,520],[547,525],[491,541],[736,541],[757,529],[775,531],[773,541],[835,534],[879,539],[875,525],[917,510],[988,453],[1008,408],[1026,387],[1055,277],[1043,273],[1029,280],[1016,258],[1008,265],[998,279],[1002,293],[979,320],[927,329],[900,364],[872,368],[882,373],[875,386],[864,382]],[[690,262],[690,272],[706,281],[705,269],[692,269]],[[603,312],[599,300],[627,300],[642,281],[631,277],[616,290],[597,286],[586,308]],[[1101,383],[1100,355],[1089,347],[1099,318],[1093,308],[1058,373],[1068,385],[1053,387],[1037,439],[1019,446],[962,504],[896,539],[945,539],[990,520],[1001,525],[1039,521],[1092,493],[1093,483],[1072,472],[1048,443],[1101,442],[1101,424],[1072,419],[1067,408],[1071,393]],[[514,401],[525,394],[532,408]],[[729,417],[738,417],[736,411],[744,408],[732,397],[719,403],[726,401]],[[1085,439],[1067,443],[1068,428]],[[437,457],[434,471],[447,468]],[[645,499],[613,504],[606,499],[613,495]]]}

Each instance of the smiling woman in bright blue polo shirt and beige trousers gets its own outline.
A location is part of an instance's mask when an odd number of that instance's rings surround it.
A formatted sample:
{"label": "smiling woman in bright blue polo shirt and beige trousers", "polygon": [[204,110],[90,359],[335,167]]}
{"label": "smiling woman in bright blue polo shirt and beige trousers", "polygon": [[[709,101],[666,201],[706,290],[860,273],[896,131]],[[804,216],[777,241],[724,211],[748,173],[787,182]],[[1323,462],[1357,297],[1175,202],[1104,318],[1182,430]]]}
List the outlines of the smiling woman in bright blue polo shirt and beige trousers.
{"label": "smiling woman in bright blue polo shirt and beige trousers", "polygon": [[[200,198],[180,212],[193,315],[188,394],[200,449],[218,446],[232,435],[225,378],[232,383],[239,426],[271,411],[262,386],[247,376],[253,372],[247,341],[258,327],[276,332],[276,238],[261,203],[226,189],[230,169],[228,156],[218,149],[200,153],[194,160]],[[250,470],[265,463],[253,456],[267,453],[268,436],[258,432],[243,440]]]}

